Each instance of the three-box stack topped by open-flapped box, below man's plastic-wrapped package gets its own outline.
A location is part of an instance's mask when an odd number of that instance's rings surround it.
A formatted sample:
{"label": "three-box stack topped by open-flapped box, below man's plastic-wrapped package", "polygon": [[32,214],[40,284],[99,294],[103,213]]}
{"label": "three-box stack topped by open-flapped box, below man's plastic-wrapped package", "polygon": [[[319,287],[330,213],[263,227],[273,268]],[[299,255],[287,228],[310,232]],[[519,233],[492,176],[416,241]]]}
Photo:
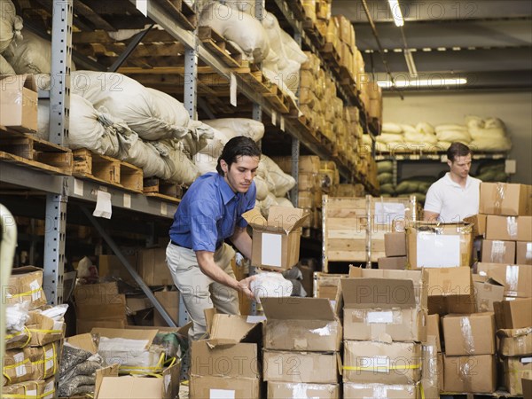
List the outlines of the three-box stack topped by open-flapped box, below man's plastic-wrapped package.
{"label": "three-box stack topped by open-flapped box, below man's plastic-wrapped package", "polygon": [[262,372],[267,397],[294,397],[301,392],[339,397],[342,327],[330,302],[266,298],[262,308],[266,316]]}

